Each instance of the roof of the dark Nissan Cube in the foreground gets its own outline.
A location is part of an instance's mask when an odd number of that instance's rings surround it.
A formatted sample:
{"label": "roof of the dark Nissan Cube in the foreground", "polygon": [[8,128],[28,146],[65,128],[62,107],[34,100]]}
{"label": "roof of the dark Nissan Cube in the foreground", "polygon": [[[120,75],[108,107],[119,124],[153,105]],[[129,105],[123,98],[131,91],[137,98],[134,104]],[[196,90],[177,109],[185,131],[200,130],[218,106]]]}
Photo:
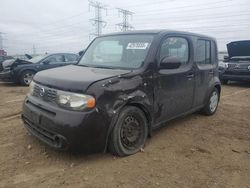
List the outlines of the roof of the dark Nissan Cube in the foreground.
{"label": "roof of the dark Nissan Cube in the foreground", "polygon": [[214,37],[203,35],[203,34],[197,34],[187,31],[177,31],[177,30],[166,30],[166,29],[157,29],[157,30],[133,30],[133,31],[125,31],[125,32],[115,32],[115,33],[108,33],[104,34],[103,36],[113,36],[113,35],[128,35],[128,34],[184,34],[184,35],[191,35],[196,36],[200,38],[208,38],[211,40],[216,40]]}

